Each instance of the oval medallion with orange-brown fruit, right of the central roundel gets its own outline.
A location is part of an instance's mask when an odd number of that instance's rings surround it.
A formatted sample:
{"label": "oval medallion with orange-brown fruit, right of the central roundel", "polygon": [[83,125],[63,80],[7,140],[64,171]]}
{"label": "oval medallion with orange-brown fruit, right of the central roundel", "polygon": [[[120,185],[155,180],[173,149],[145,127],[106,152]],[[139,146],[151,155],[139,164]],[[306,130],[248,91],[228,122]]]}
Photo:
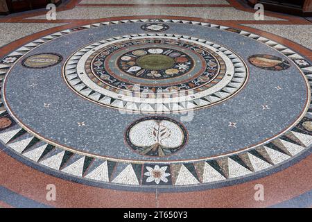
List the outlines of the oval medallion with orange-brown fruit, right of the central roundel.
{"label": "oval medallion with orange-brown fruit, right of the central roundel", "polygon": [[289,62],[282,58],[263,54],[250,56],[248,61],[255,67],[274,71],[288,69],[291,66]]}

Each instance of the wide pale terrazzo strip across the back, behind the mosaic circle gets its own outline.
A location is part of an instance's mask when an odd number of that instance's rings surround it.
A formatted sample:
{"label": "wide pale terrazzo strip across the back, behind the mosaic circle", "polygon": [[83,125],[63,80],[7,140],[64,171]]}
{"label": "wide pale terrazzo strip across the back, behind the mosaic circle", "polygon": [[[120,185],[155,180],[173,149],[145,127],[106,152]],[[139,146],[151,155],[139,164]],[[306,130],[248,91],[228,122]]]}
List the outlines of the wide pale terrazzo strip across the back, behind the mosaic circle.
{"label": "wide pale terrazzo strip across the back, behind the mosaic circle", "polygon": [[[216,20],[254,20],[254,13],[236,10],[235,8],[121,8],[121,7],[78,7],[58,12],[58,19],[100,19],[132,15],[166,15],[189,16]],[[44,19],[44,16],[30,19]],[[264,17],[265,20],[283,20],[275,17]]]}

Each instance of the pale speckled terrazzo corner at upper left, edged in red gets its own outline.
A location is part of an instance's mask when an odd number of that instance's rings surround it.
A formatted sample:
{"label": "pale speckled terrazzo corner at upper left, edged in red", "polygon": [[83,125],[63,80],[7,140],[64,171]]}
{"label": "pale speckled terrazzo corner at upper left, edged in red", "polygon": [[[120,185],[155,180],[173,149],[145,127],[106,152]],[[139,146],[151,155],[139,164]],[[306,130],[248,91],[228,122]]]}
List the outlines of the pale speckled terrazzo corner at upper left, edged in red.
{"label": "pale speckled terrazzo corner at upper left, edged in red", "polygon": [[33,33],[62,24],[49,23],[0,23],[0,47]]}

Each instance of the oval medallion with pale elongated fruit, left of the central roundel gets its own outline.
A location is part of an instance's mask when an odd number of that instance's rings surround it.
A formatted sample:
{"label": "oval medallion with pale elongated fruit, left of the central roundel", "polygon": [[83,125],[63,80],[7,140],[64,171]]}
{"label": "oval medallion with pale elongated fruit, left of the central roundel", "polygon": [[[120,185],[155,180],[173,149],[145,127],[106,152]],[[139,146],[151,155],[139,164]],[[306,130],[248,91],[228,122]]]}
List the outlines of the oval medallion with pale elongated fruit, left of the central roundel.
{"label": "oval medallion with pale elongated fruit, left of the central roundel", "polygon": [[62,56],[56,53],[40,53],[25,58],[21,64],[26,68],[42,69],[62,62]]}

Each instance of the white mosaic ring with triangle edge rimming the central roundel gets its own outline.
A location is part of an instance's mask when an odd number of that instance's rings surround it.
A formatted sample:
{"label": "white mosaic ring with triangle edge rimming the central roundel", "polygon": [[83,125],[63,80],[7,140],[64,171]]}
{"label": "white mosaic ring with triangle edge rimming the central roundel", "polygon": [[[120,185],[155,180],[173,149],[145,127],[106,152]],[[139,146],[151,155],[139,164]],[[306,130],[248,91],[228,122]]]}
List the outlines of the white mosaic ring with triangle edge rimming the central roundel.
{"label": "white mosaic ring with triangle edge rimming the central roundel", "polygon": [[[202,62],[200,62],[200,65],[197,65],[198,74],[183,75],[180,76],[180,79],[177,77],[173,82],[169,82],[171,85],[166,87],[158,87],[159,81],[153,80],[155,87],[151,87],[152,89],[145,87],[146,81],[139,82],[139,86],[122,82],[118,77],[110,76],[110,71],[107,71],[110,69],[100,72],[104,72],[105,80],[108,83],[94,78],[87,62],[87,60],[92,60],[92,54],[102,52],[103,48],[106,49],[110,45],[116,47],[116,44],[124,41],[126,44],[129,39],[132,41],[182,41],[193,45],[194,50],[200,50],[194,44],[200,45],[216,55],[209,56],[210,54],[202,52],[206,57],[207,64],[213,63],[214,67],[207,65],[202,69]],[[114,60],[110,61],[114,62]],[[216,69],[216,62],[222,65],[220,69]],[[80,49],[65,63],[64,77],[69,86],[80,96],[101,105],[130,112],[166,113],[196,110],[229,99],[245,85],[248,79],[248,69],[243,60],[235,53],[207,40],[194,37],[184,38],[181,35],[173,34],[133,34],[103,40]],[[168,81],[170,79],[166,79],[166,83]]]}

